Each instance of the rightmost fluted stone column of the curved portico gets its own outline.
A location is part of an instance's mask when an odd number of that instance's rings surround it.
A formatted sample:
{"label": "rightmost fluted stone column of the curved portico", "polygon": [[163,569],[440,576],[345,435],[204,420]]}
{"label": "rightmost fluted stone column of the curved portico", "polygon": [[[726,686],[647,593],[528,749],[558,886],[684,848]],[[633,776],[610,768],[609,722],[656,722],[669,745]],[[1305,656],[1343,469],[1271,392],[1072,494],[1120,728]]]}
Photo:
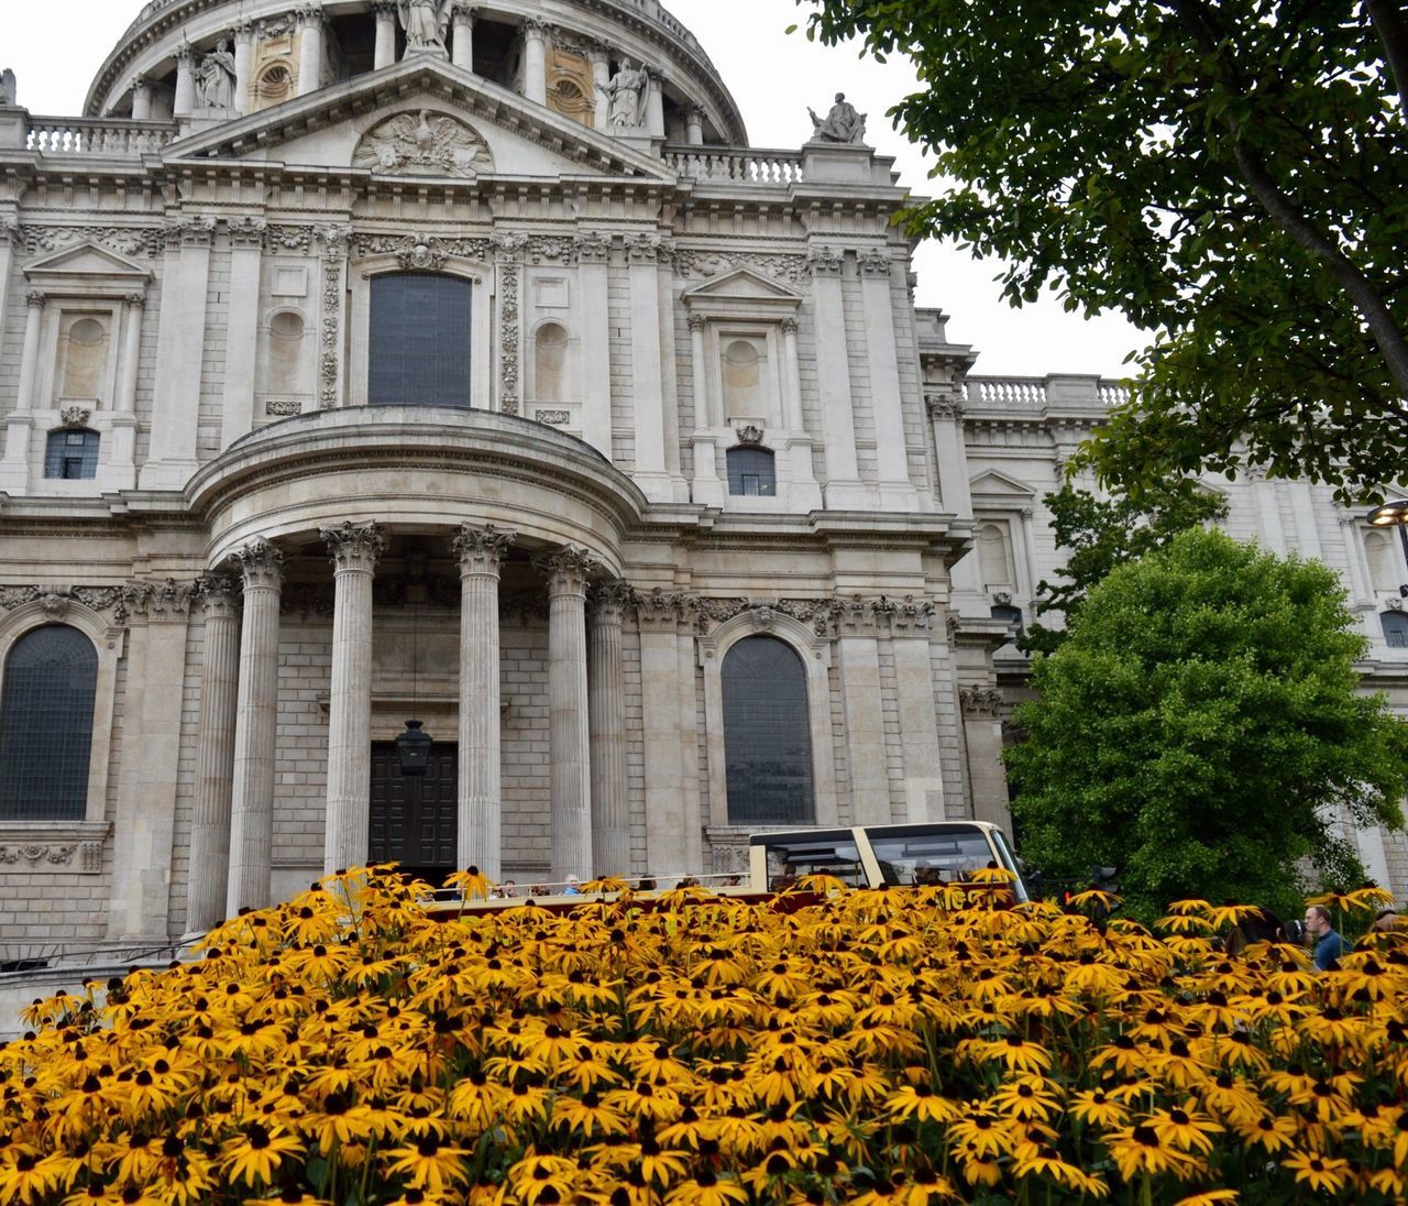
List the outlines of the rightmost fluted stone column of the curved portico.
{"label": "rightmost fluted stone column of the curved portico", "polygon": [[631,588],[611,582],[591,595],[587,709],[591,734],[591,855],[597,875],[631,871],[631,800],[625,781],[625,673],[621,626]]}

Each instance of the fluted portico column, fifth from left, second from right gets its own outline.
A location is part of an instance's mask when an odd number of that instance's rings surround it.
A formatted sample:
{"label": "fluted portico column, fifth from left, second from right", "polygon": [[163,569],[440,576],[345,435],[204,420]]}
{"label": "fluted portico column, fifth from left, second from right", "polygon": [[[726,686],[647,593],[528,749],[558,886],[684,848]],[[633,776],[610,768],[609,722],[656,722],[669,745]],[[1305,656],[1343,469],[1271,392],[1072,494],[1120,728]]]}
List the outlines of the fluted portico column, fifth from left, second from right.
{"label": "fluted portico column, fifth from left, second from right", "polygon": [[587,728],[587,576],[591,558],[562,548],[538,562],[548,579],[548,697],[552,758],[552,878],[590,879],[591,781]]}

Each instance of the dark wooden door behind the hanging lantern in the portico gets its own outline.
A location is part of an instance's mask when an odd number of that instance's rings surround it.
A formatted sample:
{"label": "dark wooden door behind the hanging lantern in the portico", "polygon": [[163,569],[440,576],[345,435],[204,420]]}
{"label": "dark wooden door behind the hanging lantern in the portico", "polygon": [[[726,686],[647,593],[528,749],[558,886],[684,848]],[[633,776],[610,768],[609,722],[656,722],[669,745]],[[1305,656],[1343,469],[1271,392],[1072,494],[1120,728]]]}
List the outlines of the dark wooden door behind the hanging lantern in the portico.
{"label": "dark wooden door behind the hanging lantern in the portico", "polygon": [[372,862],[398,862],[435,885],[455,869],[458,754],[453,741],[436,741],[425,775],[408,779],[396,742],[372,742]]}

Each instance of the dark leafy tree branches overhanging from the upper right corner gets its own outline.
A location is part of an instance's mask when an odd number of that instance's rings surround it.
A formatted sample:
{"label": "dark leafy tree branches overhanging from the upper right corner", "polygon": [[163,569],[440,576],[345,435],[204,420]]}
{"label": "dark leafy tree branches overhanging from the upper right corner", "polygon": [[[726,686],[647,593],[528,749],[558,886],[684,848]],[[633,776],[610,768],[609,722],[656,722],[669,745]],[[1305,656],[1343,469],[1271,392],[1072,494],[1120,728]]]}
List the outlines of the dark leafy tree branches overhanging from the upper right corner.
{"label": "dark leafy tree branches overhanging from the upper right corner", "polygon": [[893,116],[952,182],[917,235],[1152,332],[1093,456],[1139,490],[1408,464],[1408,21],[1393,0],[798,0],[914,59]]}

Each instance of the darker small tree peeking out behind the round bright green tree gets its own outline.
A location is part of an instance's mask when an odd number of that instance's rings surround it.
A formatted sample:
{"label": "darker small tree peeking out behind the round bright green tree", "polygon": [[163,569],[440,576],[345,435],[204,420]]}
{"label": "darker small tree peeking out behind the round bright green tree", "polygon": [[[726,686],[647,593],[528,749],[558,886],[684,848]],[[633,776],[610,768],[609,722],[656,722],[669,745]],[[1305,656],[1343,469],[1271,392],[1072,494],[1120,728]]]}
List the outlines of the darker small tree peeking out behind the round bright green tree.
{"label": "darker small tree peeking out behind the round bright green tree", "polygon": [[1060,628],[1036,623],[1018,642],[1024,652],[1052,654],[1080,611],[1090,588],[1110,571],[1163,548],[1180,531],[1226,518],[1226,503],[1191,478],[1152,486],[1138,496],[1097,497],[1070,482],[1042,502],[1052,517],[1056,544],[1070,549],[1060,582],[1036,583],[1036,614],[1064,616]]}

